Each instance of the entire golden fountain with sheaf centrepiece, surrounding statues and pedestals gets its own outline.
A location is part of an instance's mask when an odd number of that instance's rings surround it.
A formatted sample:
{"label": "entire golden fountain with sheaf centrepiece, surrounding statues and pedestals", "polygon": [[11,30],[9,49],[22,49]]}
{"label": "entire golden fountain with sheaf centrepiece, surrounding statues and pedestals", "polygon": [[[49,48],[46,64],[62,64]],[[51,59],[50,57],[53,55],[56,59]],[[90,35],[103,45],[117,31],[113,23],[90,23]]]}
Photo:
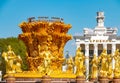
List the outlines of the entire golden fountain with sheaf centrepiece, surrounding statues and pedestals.
{"label": "entire golden fountain with sheaf centrepiece, surrounding statues and pedestals", "polygon": [[[41,20],[42,18],[42,20]],[[64,46],[72,39],[67,32],[71,28],[70,24],[65,24],[63,19],[52,17],[34,17],[28,19],[28,22],[22,22],[19,26],[22,34],[21,39],[26,47],[26,61],[28,62],[28,71],[22,71],[22,60],[20,56],[15,55],[12,48],[8,46],[8,51],[2,53],[6,61],[7,83],[18,82],[37,82],[41,83],[59,83],[73,82],[85,83],[85,79],[90,77],[92,82],[108,83],[120,81],[120,52],[116,50],[114,55],[107,54],[106,49],[100,56],[94,55],[91,61],[91,74],[85,76],[86,66],[84,53],[81,47],[76,50],[73,57],[64,58]],[[112,61],[115,60],[115,69],[112,68]],[[66,61],[67,70],[62,71],[63,63]],[[76,71],[74,71],[76,70]],[[57,82],[56,82],[57,81]],[[87,79],[89,81],[89,79]]]}

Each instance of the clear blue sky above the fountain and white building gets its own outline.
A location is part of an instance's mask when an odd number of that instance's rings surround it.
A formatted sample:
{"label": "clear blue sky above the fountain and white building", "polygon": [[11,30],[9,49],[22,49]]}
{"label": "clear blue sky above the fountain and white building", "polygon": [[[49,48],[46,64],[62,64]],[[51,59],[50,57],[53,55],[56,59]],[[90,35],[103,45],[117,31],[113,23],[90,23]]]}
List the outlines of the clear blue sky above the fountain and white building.
{"label": "clear blue sky above the fountain and white building", "polygon": [[[106,27],[120,30],[120,0],[0,0],[0,38],[17,37],[22,33],[18,25],[31,16],[64,18],[72,25],[69,34],[82,34],[83,28],[96,26],[97,11],[105,12]],[[65,46],[71,55],[75,49],[74,40]]]}

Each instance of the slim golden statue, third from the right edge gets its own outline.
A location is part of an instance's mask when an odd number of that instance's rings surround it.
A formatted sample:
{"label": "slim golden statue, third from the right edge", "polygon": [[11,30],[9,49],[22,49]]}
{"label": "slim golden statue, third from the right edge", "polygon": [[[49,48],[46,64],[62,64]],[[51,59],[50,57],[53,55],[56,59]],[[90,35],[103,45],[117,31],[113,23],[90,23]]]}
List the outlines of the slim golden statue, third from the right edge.
{"label": "slim golden statue, third from the right edge", "polygon": [[98,77],[98,57],[94,54],[91,61],[91,78],[96,79]]}

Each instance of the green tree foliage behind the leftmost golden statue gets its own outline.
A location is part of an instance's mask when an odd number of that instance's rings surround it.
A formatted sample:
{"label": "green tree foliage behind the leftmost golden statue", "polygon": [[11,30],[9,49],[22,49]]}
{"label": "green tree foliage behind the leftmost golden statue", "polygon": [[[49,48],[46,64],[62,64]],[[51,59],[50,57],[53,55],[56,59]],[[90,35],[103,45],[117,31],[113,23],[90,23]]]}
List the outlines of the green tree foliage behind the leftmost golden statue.
{"label": "green tree foliage behind the leftmost golden statue", "polygon": [[[3,52],[7,51],[8,45],[11,45],[12,50],[15,52],[16,55],[21,56],[23,60],[22,69],[27,70],[28,66],[27,66],[26,55],[25,55],[26,47],[24,43],[16,37],[1,38],[0,39],[0,55]],[[2,56],[0,56],[0,70],[5,72],[5,62]]]}

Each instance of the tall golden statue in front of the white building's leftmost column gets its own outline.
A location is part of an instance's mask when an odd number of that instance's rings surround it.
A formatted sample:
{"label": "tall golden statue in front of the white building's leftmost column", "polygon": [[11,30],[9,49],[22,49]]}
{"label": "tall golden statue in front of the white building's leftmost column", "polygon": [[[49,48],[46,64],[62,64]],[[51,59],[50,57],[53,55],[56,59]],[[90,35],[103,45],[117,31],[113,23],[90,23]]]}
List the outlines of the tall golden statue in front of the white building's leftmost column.
{"label": "tall golden statue in front of the white building's leftmost column", "polygon": [[84,73],[86,70],[85,65],[84,65],[84,61],[85,61],[85,56],[81,52],[81,48],[79,47],[76,50],[76,56],[75,56],[76,75],[77,76],[84,76]]}

